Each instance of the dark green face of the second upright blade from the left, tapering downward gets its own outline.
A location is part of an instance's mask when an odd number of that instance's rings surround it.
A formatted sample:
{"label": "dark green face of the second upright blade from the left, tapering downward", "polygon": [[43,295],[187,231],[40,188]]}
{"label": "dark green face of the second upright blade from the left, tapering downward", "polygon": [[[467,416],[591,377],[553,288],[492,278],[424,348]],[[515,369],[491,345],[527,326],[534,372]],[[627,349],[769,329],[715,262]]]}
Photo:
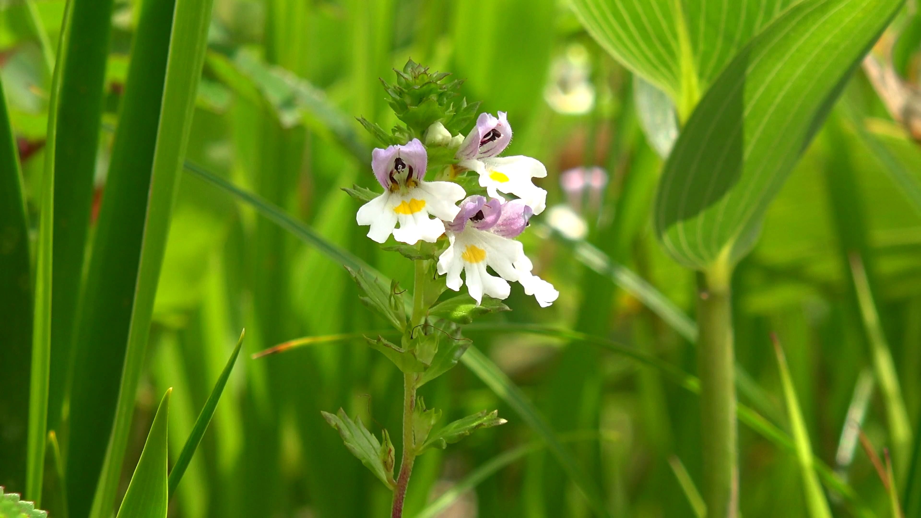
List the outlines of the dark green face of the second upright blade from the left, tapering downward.
{"label": "dark green face of the second upright blade from the left, tapering downward", "polygon": [[58,106],[55,162],[66,164],[54,179],[52,268],[52,363],[48,428],[61,419],[69,377],[76,305],[83,277],[89,213],[93,202],[102,84],[109,53],[112,0],[73,0],[64,76]]}

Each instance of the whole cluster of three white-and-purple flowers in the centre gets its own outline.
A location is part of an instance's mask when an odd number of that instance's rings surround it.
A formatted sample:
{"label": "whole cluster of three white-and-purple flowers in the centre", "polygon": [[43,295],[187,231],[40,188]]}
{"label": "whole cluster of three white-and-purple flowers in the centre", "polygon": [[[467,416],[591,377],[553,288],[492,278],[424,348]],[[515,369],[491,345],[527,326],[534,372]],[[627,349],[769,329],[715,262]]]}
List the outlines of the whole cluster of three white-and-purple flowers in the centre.
{"label": "whole cluster of three white-and-purple flowers in the centre", "polygon": [[[440,180],[432,182],[426,182],[428,151],[418,138],[403,146],[375,149],[371,167],[384,193],[358,210],[358,224],[369,226],[367,237],[380,243],[391,234],[407,244],[437,242],[447,235],[449,247],[438,256],[437,272],[448,276],[447,286],[455,291],[465,282],[477,303],[484,295],[506,299],[508,283],[519,282],[541,306],[549,306],[559,292],[531,273],[533,265],[515,241],[530,217],[546,206],[547,192],[532,179],[545,177],[547,170],[530,157],[499,157],[511,138],[505,112],[498,112],[498,117],[481,113],[462,139],[443,124],[431,124],[426,144],[454,151],[449,164],[436,171]],[[454,181],[467,171],[477,175],[488,197],[464,198],[467,193]],[[500,193],[517,198],[507,200]]]}

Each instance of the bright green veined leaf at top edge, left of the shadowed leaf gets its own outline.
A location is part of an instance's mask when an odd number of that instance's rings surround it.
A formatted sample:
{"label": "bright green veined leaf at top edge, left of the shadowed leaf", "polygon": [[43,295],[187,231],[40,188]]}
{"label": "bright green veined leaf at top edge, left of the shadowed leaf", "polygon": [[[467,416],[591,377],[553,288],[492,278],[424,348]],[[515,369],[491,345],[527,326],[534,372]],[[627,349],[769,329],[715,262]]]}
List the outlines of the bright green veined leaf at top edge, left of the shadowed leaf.
{"label": "bright green veined leaf at top edge, left of the shadowed leaf", "polygon": [[582,25],[685,116],[738,50],[799,0],[574,0]]}

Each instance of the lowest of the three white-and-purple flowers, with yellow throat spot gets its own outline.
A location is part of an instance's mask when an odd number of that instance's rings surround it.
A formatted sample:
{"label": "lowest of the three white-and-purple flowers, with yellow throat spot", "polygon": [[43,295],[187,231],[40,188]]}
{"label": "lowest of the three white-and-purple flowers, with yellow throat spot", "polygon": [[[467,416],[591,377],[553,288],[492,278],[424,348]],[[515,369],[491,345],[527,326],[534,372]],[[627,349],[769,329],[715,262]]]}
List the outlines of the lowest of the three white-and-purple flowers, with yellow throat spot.
{"label": "lowest of the three white-and-purple flowers, with yellow throat spot", "polygon": [[[486,201],[484,196],[464,200],[457,218],[447,225],[450,246],[438,257],[438,273],[447,274],[448,288],[461,290],[463,272],[467,290],[478,304],[484,295],[506,299],[508,281],[519,282],[542,307],[552,304],[559,291],[530,273],[533,265],[524,247],[512,239],[527,227],[531,212],[523,200],[503,203],[499,198]],[[487,266],[499,277],[491,275]]]}

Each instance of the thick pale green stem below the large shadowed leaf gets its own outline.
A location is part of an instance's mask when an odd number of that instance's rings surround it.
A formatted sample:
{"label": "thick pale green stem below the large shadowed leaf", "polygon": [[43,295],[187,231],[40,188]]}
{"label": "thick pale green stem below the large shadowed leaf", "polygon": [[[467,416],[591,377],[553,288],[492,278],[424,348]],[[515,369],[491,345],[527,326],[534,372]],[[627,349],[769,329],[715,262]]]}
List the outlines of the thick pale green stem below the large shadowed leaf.
{"label": "thick pale green stem below the large shadowed leaf", "polygon": [[739,515],[731,276],[728,263],[721,263],[698,277],[697,371],[701,380],[704,496],[709,518]]}

